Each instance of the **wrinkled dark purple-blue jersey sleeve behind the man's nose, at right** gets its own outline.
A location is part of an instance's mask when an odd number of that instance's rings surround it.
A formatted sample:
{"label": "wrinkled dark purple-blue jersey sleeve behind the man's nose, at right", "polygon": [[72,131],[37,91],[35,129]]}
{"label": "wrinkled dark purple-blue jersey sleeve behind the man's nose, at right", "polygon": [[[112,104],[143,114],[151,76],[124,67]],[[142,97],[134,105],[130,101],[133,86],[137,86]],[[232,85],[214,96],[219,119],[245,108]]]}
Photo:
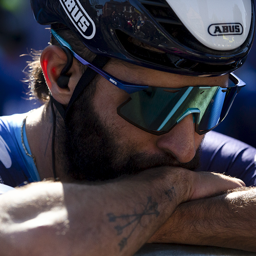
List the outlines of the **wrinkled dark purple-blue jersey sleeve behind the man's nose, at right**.
{"label": "wrinkled dark purple-blue jersey sleeve behind the man's nose, at right", "polygon": [[253,186],[256,184],[256,148],[221,133],[208,132],[199,170],[226,172],[243,180],[246,186]]}

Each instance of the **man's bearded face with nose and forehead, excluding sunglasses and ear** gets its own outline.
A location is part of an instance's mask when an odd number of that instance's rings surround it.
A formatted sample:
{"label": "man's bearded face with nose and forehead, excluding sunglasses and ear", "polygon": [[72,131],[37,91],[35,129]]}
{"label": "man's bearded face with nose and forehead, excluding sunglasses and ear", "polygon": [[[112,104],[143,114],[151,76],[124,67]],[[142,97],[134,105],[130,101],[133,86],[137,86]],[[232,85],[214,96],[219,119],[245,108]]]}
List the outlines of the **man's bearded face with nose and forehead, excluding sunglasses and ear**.
{"label": "man's bearded face with nose and forehead, excluding sunglasses and ear", "polygon": [[[185,86],[227,86],[228,76],[199,78],[110,61],[104,68],[111,75],[134,84],[181,88]],[[86,95],[83,95],[86,97]],[[91,101],[75,104],[72,136],[67,136],[69,175],[79,180],[107,180],[157,166],[195,169],[203,135],[195,132],[192,114],[170,132],[153,135],[128,123],[117,107],[129,94],[100,77]]]}

